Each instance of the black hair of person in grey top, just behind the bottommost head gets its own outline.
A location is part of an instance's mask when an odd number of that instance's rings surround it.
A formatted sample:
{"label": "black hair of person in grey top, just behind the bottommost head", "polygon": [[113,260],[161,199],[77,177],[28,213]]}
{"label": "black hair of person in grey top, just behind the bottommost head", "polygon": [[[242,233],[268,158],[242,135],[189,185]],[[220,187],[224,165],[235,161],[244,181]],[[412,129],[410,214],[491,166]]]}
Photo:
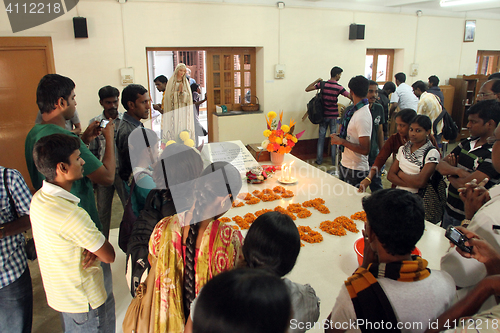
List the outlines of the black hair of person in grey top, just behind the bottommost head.
{"label": "black hair of person in grey top, just behind the bottommost head", "polygon": [[278,276],[289,273],[300,252],[300,235],[292,218],[280,212],[259,216],[248,230],[243,256],[250,268],[262,268]]}

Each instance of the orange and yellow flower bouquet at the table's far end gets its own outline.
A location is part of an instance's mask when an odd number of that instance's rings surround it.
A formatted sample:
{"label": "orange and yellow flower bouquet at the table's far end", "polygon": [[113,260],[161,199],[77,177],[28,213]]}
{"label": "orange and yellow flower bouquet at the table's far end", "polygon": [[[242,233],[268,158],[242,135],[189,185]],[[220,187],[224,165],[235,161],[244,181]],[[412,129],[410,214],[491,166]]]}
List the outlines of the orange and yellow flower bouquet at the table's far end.
{"label": "orange and yellow flower bouquet at the table's far end", "polygon": [[305,131],[294,135],[295,122],[292,119],[290,125],[283,124],[283,111],[280,112],[279,121],[275,119],[276,117],[274,111],[269,112],[266,116],[267,129],[264,131],[264,136],[267,139],[262,142],[262,148],[268,152],[287,154],[292,151]]}

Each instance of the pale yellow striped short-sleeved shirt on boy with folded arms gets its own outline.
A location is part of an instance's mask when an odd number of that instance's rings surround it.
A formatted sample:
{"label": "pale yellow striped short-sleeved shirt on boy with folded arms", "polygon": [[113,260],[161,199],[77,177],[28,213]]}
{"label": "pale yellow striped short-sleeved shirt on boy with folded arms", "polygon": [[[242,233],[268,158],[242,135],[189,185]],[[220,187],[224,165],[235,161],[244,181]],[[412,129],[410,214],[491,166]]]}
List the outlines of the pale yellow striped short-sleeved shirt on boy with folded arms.
{"label": "pale yellow striped short-sleeved shirt on boy with folded arms", "polygon": [[59,312],[83,313],[106,300],[99,260],[83,269],[83,250],[99,250],[104,235],[78,199],[43,181],[31,201],[31,224],[47,303]]}

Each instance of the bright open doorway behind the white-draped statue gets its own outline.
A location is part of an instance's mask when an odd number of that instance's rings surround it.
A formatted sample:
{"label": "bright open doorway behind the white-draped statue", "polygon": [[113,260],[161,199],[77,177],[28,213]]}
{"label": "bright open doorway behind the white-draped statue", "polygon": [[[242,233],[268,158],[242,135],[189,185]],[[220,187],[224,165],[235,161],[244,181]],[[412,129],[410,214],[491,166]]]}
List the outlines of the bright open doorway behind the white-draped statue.
{"label": "bright open doorway behind the white-draped statue", "polygon": [[[206,52],[204,50],[157,50],[147,48],[148,59],[148,82],[149,91],[153,104],[161,104],[163,93],[155,87],[154,79],[159,75],[165,75],[168,80],[172,77],[175,67],[179,63],[183,63],[191,70],[191,79],[200,85],[201,99],[207,93],[206,85]],[[190,81],[192,81],[190,80]],[[199,107],[199,120],[204,129],[208,129],[207,103],[204,102]],[[156,110],[151,110],[152,129],[155,132],[161,132],[161,117],[157,117],[160,113]],[[199,142],[208,142],[208,135],[199,137]]]}

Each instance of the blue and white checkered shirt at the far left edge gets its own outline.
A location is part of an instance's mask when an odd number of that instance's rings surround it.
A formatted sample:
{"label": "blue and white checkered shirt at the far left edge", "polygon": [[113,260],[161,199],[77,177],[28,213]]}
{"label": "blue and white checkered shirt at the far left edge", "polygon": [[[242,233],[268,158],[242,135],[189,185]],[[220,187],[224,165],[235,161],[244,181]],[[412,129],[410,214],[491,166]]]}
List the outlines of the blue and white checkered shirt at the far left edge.
{"label": "blue and white checkered shirt at the far left edge", "polygon": [[[14,169],[7,170],[0,166],[0,225],[14,221],[9,198],[3,182],[3,174],[7,172],[7,187],[12,195],[19,217],[28,215],[31,192],[23,176]],[[28,261],[24,250],[24,236],[17,234],[0,239],[0,288],[16,281],[26,270]]]}

